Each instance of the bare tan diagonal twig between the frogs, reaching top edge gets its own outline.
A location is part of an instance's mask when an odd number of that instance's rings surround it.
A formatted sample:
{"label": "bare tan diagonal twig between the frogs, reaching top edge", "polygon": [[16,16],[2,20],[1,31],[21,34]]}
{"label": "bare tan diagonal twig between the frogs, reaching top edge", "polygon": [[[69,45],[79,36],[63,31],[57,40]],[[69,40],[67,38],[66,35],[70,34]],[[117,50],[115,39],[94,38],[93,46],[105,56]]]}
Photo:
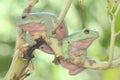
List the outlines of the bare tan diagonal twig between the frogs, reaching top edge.
{"label": "bare tan diagonal twig between the frogs, reaching top edge", "polygon": [[70,8],[72,1],[73,0],[66,0],[64,7],[59,14],[58,22],[53,27],[53,33],[55,33],[56,29],[58,28],[58,26],[62,23],[63,19],[65,18],[65,15],[68,9]]}

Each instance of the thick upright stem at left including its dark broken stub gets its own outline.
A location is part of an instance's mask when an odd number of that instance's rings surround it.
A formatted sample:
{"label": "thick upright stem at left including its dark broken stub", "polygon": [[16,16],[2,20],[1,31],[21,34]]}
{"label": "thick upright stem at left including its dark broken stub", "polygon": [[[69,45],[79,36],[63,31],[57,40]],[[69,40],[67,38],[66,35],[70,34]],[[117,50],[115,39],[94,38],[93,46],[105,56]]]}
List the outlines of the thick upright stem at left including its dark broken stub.
{"label": "thick upright stem at left including its dark broken stub", "polygon": [[23,80],[23,78],[26,77],[23,74],[27,75],[25,70],[28,67],[30,60],[33,58],[33,51],[45,43],[42,38],[39,38],[35,40],[36,44],[33,46],[25,45],[26,35],[24,33],[25,32],[21,28],[18,28],[16,51],[9,71],[5,76],[5,80]]}

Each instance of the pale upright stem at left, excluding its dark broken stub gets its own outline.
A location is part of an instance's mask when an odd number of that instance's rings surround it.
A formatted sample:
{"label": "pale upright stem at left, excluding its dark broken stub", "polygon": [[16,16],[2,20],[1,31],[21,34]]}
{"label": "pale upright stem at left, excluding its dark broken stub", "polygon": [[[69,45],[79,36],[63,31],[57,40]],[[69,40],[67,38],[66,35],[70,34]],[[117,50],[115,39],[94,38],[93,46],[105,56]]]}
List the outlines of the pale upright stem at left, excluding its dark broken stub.
{"label": "pale upright stem at left, excluding its dark broken stub", "polygon": [[16,39],[16,47],[15,47],[15,53],[14,53],[14,57],[11,63],[11,66],[5,76],[5,80],[20,80],[20,76],[25,72],[26,67],[29,64],[28,59],[24,59],[19,57],[19,55],[21,54],[19,48],[21,47],[21,45],[23,45],[25,43],[25,32],[18,28],[17,29],[17,39]]}

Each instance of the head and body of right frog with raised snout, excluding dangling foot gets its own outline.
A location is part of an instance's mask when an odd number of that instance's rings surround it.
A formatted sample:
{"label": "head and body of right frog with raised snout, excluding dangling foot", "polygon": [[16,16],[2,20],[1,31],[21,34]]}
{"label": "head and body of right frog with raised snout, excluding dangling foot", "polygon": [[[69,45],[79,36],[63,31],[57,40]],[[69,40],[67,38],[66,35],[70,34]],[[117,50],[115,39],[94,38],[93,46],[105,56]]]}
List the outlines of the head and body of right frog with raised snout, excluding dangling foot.
{"label": "head and body of right frog with raised snout, excluding dangling foot", "polygon": [[65,60],[79,64],[86,59],[86,50],[98,37],[98,32],[84,29],[62,40],[62,52]]}

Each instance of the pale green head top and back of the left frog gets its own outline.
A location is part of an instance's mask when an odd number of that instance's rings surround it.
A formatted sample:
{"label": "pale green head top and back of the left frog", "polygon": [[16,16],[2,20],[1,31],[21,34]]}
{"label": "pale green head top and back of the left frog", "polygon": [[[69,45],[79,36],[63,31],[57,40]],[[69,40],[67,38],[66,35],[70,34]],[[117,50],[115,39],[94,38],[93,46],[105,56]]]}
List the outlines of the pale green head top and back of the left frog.
{"label": "pale green head top and back of the left frog", "polygon": [[18,18],[19,24],[28,24],[28,23],[39,23],[41,21],[47,20],[56,20],[57,17],[55,14],[50,12],[37,12],[37,13],[30,13],[27,15],[26,18],[22,19],[21,17]]}

